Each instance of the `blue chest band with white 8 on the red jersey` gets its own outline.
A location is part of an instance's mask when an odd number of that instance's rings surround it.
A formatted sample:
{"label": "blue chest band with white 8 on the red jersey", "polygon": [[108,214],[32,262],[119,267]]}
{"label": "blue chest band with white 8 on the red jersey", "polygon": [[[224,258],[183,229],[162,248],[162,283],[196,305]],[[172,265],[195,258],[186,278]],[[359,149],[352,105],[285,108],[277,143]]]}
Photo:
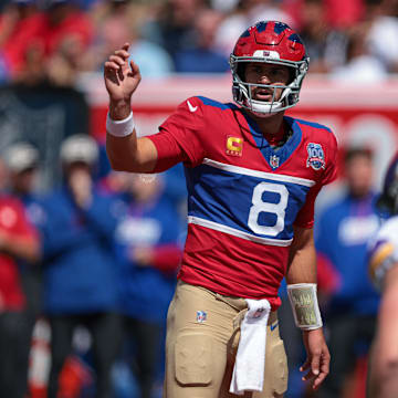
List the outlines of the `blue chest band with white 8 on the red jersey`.
{"label": "blue chest band with white 8 on the red jersey", "polygon": [[186,168],[186,177],[189,216],[284,241],[293,238],[293,222],[310,190],[277,175],[250,176],[206,164]]}

